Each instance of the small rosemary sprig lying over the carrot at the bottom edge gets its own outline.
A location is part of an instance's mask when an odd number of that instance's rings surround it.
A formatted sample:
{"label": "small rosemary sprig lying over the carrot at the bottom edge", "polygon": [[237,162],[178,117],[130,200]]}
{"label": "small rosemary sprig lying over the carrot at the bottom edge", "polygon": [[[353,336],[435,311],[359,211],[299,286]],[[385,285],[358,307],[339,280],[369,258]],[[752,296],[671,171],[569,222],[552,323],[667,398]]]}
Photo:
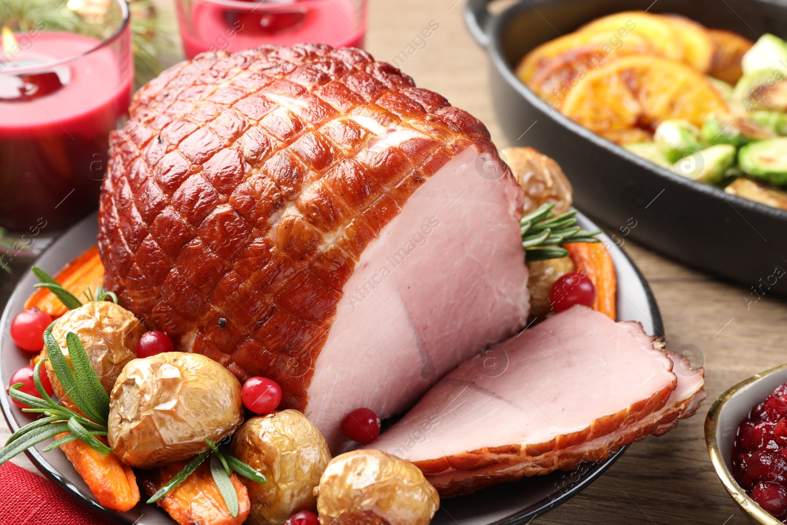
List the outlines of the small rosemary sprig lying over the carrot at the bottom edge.
{"label": "small rosemary sprig lying over the carrot at the bottom edge", "polygon": [[216,486],[219,487],[221,497],[224,498],[224,503],[227,505],[227,510],[230,511],[231,516],[238,516],[238,494],[235,492],[235,486],[232,485],[232,480],[230,478],[232,475],[231,471],[235,471],[238,475],[242,475],[244,478],[251,479],[258,483],[264,483],[266,481],[265,476],[262,475],[260,471],[238,460],[238,458],[231,457],[229,454],[221,452],[219,447],[216,446],[216,443],[211,440],[205,439],[205,443],[207,443],[210,448],[205,450],[205,452],[199,453],[193,460],[190,460],[181,471],[172,476],[172,479],[162,486],[161,489],[157,490],[156,494],[153,494],[147,503],[155,503],[169,494],[192,472],[197,470],[203,461],[210,457],[210,473],[213,476],[213,481],[216,482]]}

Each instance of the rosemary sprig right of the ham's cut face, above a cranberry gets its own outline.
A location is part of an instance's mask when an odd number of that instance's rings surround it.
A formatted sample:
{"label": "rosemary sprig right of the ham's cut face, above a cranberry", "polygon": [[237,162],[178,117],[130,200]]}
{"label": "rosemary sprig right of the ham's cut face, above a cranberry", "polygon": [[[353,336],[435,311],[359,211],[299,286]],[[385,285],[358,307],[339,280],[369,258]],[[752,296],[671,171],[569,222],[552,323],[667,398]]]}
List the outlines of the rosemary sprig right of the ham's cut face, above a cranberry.
{"label": "rosemary sprig right of the ham's cut face, above a cranberry", "polygon": [[568,250],[561,246],[567,242],[599,242],[594,235],[599,235],[600,230],[585,231],[576,226],[576,210],[555,216],[554,206],[541,205],[519,221],[527,262],[566,257]]}

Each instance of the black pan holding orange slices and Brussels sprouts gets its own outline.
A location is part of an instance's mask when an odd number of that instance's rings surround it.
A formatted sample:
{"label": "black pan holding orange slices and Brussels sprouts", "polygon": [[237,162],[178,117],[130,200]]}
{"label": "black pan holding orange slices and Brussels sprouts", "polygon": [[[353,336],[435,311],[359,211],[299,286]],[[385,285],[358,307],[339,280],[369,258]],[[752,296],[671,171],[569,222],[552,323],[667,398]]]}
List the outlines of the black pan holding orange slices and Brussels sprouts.
{"label": "black pan holding orange slices and Brussels sprouts", "polygon": [[752,40],[766,32],[787,37],[787,2],[524,0],[496,16],[488,3],[468,0],[465,20],[492,59],[493,104],[512,146],[553,157],[571,179],[577,207],[611,229],[759,294],[787,295],[787,279],[776,276],[784,272],[774,272],[787,268],[787,212],[684,179],[601,139],[538,98],[513,69],[535,46],[626,10],[678,13]]}

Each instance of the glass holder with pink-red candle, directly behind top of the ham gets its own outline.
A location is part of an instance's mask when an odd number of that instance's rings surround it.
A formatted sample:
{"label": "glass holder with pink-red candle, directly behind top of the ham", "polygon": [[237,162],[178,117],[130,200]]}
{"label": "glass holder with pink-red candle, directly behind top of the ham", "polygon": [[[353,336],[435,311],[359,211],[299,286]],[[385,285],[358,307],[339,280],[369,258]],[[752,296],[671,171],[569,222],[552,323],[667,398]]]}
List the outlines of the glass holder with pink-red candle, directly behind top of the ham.
{"label": "glass holder with pink-red candle, directly behind top of the ham", "polygon": [[183,52],[240,51],[264,44],[361,47],[366,0],[178,0]]}

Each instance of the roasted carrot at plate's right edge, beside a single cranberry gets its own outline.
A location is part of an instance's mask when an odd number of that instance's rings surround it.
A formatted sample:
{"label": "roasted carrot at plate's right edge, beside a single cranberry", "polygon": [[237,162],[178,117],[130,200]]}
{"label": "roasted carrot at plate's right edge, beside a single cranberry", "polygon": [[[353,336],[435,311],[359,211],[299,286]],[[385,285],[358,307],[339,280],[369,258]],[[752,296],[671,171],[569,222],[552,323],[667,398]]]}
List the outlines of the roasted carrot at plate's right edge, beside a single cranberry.
{"label": "roasted carrot at plate's right edge, beside a single cranberry", "polygon": [[577,267],[577,272],[587,275],[596,287],[593,309],[617,320],[618,282],[615,263],[604,242],[571,242],[563,245]]}

